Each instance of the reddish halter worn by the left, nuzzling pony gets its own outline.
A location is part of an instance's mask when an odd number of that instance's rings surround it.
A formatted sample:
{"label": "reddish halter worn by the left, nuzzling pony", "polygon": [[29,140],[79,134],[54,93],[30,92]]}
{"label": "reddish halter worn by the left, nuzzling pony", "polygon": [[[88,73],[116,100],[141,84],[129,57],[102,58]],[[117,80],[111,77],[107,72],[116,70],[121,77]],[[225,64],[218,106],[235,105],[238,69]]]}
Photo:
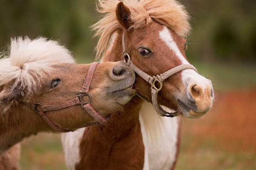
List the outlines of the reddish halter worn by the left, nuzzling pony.
{"label": "reddish halter worn by the left, nuzzling pony", "polygon": [[[57,110],[61,110],[61,109],[64,109],[64,108],[71,107],[71,106],[81,105],[82,108],[84,108],[85,111],[87,111],[87,113],[89,113],[90,116],[92,116],[97,121],[97,122],[86,123],[84,125],[84,127],[100,125],[102,123],[107,122],[107,119],[102,117],[99,113],[97,113],[92,108],[92,106],[90,105],[91,95],[88,93],[91,81],[93,79],[94,71],[95,71],[98,64],[99,64],[99,62],[93,62],[90,65],[90,68],[89,68],[89,70],[86,74],[85,80],[84,80],[84,85],[82,87],[82,90],[79,91],[79,95],[77,95],[75,98],[70,99],[67,102],[57,104],[57,105],[42,105],[40,103],[32,103],[30,105],[30,108],[32,108],[36,113],[38,113],[47,122],[47,124],[50,127],[52,127],[52,129],[54,129],[56,131],[59,131],[61,133],[70,132],[72,130],[64,129],[64,128],[59,127],[54,122],[52,122],[51,119],[49,119],[49,117],[47,116],[47,114],[45,112],[47,112],[47,111],[57,111]],[[88,101],[83,101],[83,99],[82,99],[83,96],[88,96],[89,100]]]}

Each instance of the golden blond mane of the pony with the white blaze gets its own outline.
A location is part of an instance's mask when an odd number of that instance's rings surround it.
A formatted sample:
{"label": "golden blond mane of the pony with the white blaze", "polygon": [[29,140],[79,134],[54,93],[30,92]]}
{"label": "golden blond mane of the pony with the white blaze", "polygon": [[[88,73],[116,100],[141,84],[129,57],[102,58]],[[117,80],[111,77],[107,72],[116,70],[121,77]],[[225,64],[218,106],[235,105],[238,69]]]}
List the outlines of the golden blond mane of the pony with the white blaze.
{"label": "golden blond mane of the pony with the white blaze", "polygon": [[[106,51],[112,34],[122,29],[116,18],[116,6],[119,0],[99,0],[97,10],[105,16],[92,26],[99,36],[96,46],[96,58]],[[189,14],[185,7],[176,0],[122,0],[131,10],[133,25],[130,28],[141,28],[153,20],[167,26],[178,35],[186,37],[190,31]]]}

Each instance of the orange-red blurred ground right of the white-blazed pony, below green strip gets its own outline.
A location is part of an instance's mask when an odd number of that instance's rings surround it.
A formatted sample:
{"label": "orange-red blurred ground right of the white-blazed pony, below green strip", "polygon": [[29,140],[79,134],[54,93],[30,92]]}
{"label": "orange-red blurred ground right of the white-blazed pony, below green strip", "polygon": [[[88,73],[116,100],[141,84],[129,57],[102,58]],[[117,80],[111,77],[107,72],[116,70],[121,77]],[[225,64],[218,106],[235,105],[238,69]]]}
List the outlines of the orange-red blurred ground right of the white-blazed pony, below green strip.
{"label": "orange-red blurred ground right of the white-blazed pony, below green strip", "polygon": [[184,120],[177,170],[256,169],[256,89],[219,94],[202,119]]}

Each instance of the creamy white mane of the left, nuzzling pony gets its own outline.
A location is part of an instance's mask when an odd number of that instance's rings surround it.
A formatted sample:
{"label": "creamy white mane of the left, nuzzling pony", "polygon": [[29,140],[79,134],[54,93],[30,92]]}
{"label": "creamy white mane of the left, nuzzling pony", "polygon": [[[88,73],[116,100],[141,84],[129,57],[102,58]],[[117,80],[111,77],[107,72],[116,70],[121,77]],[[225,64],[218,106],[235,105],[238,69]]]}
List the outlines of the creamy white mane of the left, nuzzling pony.
{"label": "creamy white mane of the left, nuzzling pony", "polygon": [[0,87],[10,83],[12,89],[34,93],[41,87],[41,79],[52,70],[51,66],[60,63],[74,63],[74,59],[58,42],[44,37],[12,38],[4,58],[0,59]]}

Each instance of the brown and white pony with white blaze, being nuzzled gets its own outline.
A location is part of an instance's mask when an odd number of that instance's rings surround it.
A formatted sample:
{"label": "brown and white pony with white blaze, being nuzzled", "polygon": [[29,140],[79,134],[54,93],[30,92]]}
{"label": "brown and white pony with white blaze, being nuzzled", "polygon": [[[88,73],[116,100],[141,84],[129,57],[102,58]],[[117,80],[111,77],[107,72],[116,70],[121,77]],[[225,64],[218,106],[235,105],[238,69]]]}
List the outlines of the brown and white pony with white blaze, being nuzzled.
{"label": "brown and white pony with white blaze, being nuzzled", "polygon": [[[99,0],[105,17],[93,28],[103,62],[123,60],[122,44],[131,61],[150,76],[181,64],[189,33],[189,15],[175,0]],[[125,43],[122,42],[124,33]],[[108,48],[108,44],[111,46]],[[104,52],[105,51],[105,52]],[[151,99],[151,85],[139,75],[134,89]],[[163,82],[158,102],[167,111],[199,118],[212,107],[212,83],[194,70],[183,70]],[[160,117],[150,103],[134,97],[125,113],[111,122],[62,136],[70,170],[172,170],[179,150],[180,116]]]}

